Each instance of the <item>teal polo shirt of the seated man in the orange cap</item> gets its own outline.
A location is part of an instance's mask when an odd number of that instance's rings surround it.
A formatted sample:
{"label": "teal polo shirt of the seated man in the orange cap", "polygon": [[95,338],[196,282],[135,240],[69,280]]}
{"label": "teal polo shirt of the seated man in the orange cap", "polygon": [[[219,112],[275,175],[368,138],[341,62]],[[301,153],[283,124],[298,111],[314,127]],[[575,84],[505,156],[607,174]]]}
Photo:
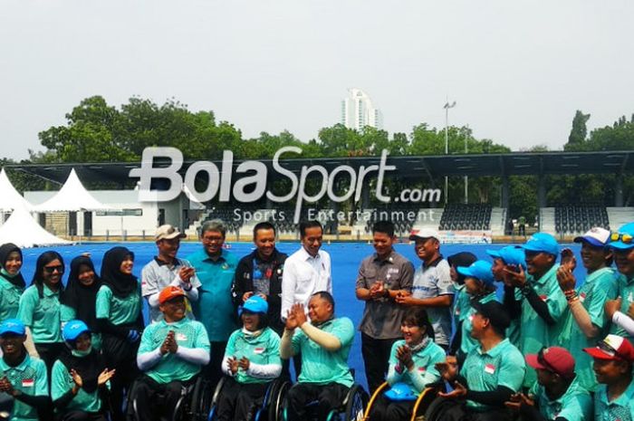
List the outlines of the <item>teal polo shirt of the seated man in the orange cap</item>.
{"label": "teal polo shirt of the seated man in the orange cap", "polygon": [[[169,330],[174,330],[174,338],[178,347],[205,349],[209,352],[209,339],[205,326],[199,321],[190,321],[186,317],[182,321],[173,323],[164,320],[151,323],[143,330],[139,354],[159,349],[168,336]],[[186,381],[193,378],[200,372],[200,369],[199,365],[178,357],[178,352],[176,354],[168,352],[161,357],[157,365],[149,368],[145,374],[157,383],[165,385],[170,381]]]}

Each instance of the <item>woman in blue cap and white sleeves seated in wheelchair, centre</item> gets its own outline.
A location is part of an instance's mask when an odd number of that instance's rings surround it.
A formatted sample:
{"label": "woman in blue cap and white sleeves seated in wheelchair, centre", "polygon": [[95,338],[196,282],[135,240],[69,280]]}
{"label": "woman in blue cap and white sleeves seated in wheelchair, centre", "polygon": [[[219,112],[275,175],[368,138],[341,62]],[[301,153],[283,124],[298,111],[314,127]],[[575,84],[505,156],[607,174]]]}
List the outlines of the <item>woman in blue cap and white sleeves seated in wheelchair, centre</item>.
{"label": "woman in blue cap and white sleeves seated in wheelchair, centre", "polygon": [[218,400],[217,421],[250,421],[271,380],[282,372],[280,337],[268,326],[268,304],[257,295],[242,306],[243,328],[226,344],[222,369],[228,376]]}

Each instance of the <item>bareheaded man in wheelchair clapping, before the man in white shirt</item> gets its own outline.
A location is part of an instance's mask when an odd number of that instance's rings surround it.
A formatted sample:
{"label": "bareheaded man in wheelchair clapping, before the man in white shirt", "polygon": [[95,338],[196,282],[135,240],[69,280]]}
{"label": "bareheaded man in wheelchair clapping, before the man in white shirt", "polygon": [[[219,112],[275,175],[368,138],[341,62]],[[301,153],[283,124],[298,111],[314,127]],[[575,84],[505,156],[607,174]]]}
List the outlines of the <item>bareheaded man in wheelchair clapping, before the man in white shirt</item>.
{"label": "bareheaded man in wheelchair clapping, before the man in white shirt", "polygon": [[[325,421],[354,384],[348,354],[354,325],[348,318],[334,317],[329,292],[315,292],[308,304],[308,321],[301,303],[293,304],[286,317],[280,345],[283,359],[302,355],[302,372],[288,392],[287,420],[306,419],[306,405],[317,401],[317,416]],[[298,329],[299,328],[299,329]]]}

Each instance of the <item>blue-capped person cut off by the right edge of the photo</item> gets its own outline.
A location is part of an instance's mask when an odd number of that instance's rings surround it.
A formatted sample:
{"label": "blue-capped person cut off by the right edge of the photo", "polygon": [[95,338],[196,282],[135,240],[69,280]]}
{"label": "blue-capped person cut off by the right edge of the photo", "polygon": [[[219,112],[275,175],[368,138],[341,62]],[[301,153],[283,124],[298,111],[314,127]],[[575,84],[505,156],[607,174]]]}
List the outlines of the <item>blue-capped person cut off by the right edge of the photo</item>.
{"label": "blue-capped person cut off by the right edge of the photo", "polygon": [[608,244],[620,273],[617,279],[618,300],[606,303],[612,321],[610,333],[634,342],[634,222],[612,233]]}

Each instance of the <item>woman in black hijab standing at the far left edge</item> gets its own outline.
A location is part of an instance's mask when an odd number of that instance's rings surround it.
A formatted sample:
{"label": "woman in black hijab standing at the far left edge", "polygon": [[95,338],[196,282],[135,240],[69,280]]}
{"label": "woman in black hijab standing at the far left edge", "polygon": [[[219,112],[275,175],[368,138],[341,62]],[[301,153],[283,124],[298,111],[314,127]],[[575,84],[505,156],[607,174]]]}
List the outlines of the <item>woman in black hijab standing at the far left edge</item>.
{"label": "woman in black hijab standing at the far left edge", "polygon": [[26,286],[20,270],[22,250],[13,243],[0,246],[0,321],[15,319]]}

